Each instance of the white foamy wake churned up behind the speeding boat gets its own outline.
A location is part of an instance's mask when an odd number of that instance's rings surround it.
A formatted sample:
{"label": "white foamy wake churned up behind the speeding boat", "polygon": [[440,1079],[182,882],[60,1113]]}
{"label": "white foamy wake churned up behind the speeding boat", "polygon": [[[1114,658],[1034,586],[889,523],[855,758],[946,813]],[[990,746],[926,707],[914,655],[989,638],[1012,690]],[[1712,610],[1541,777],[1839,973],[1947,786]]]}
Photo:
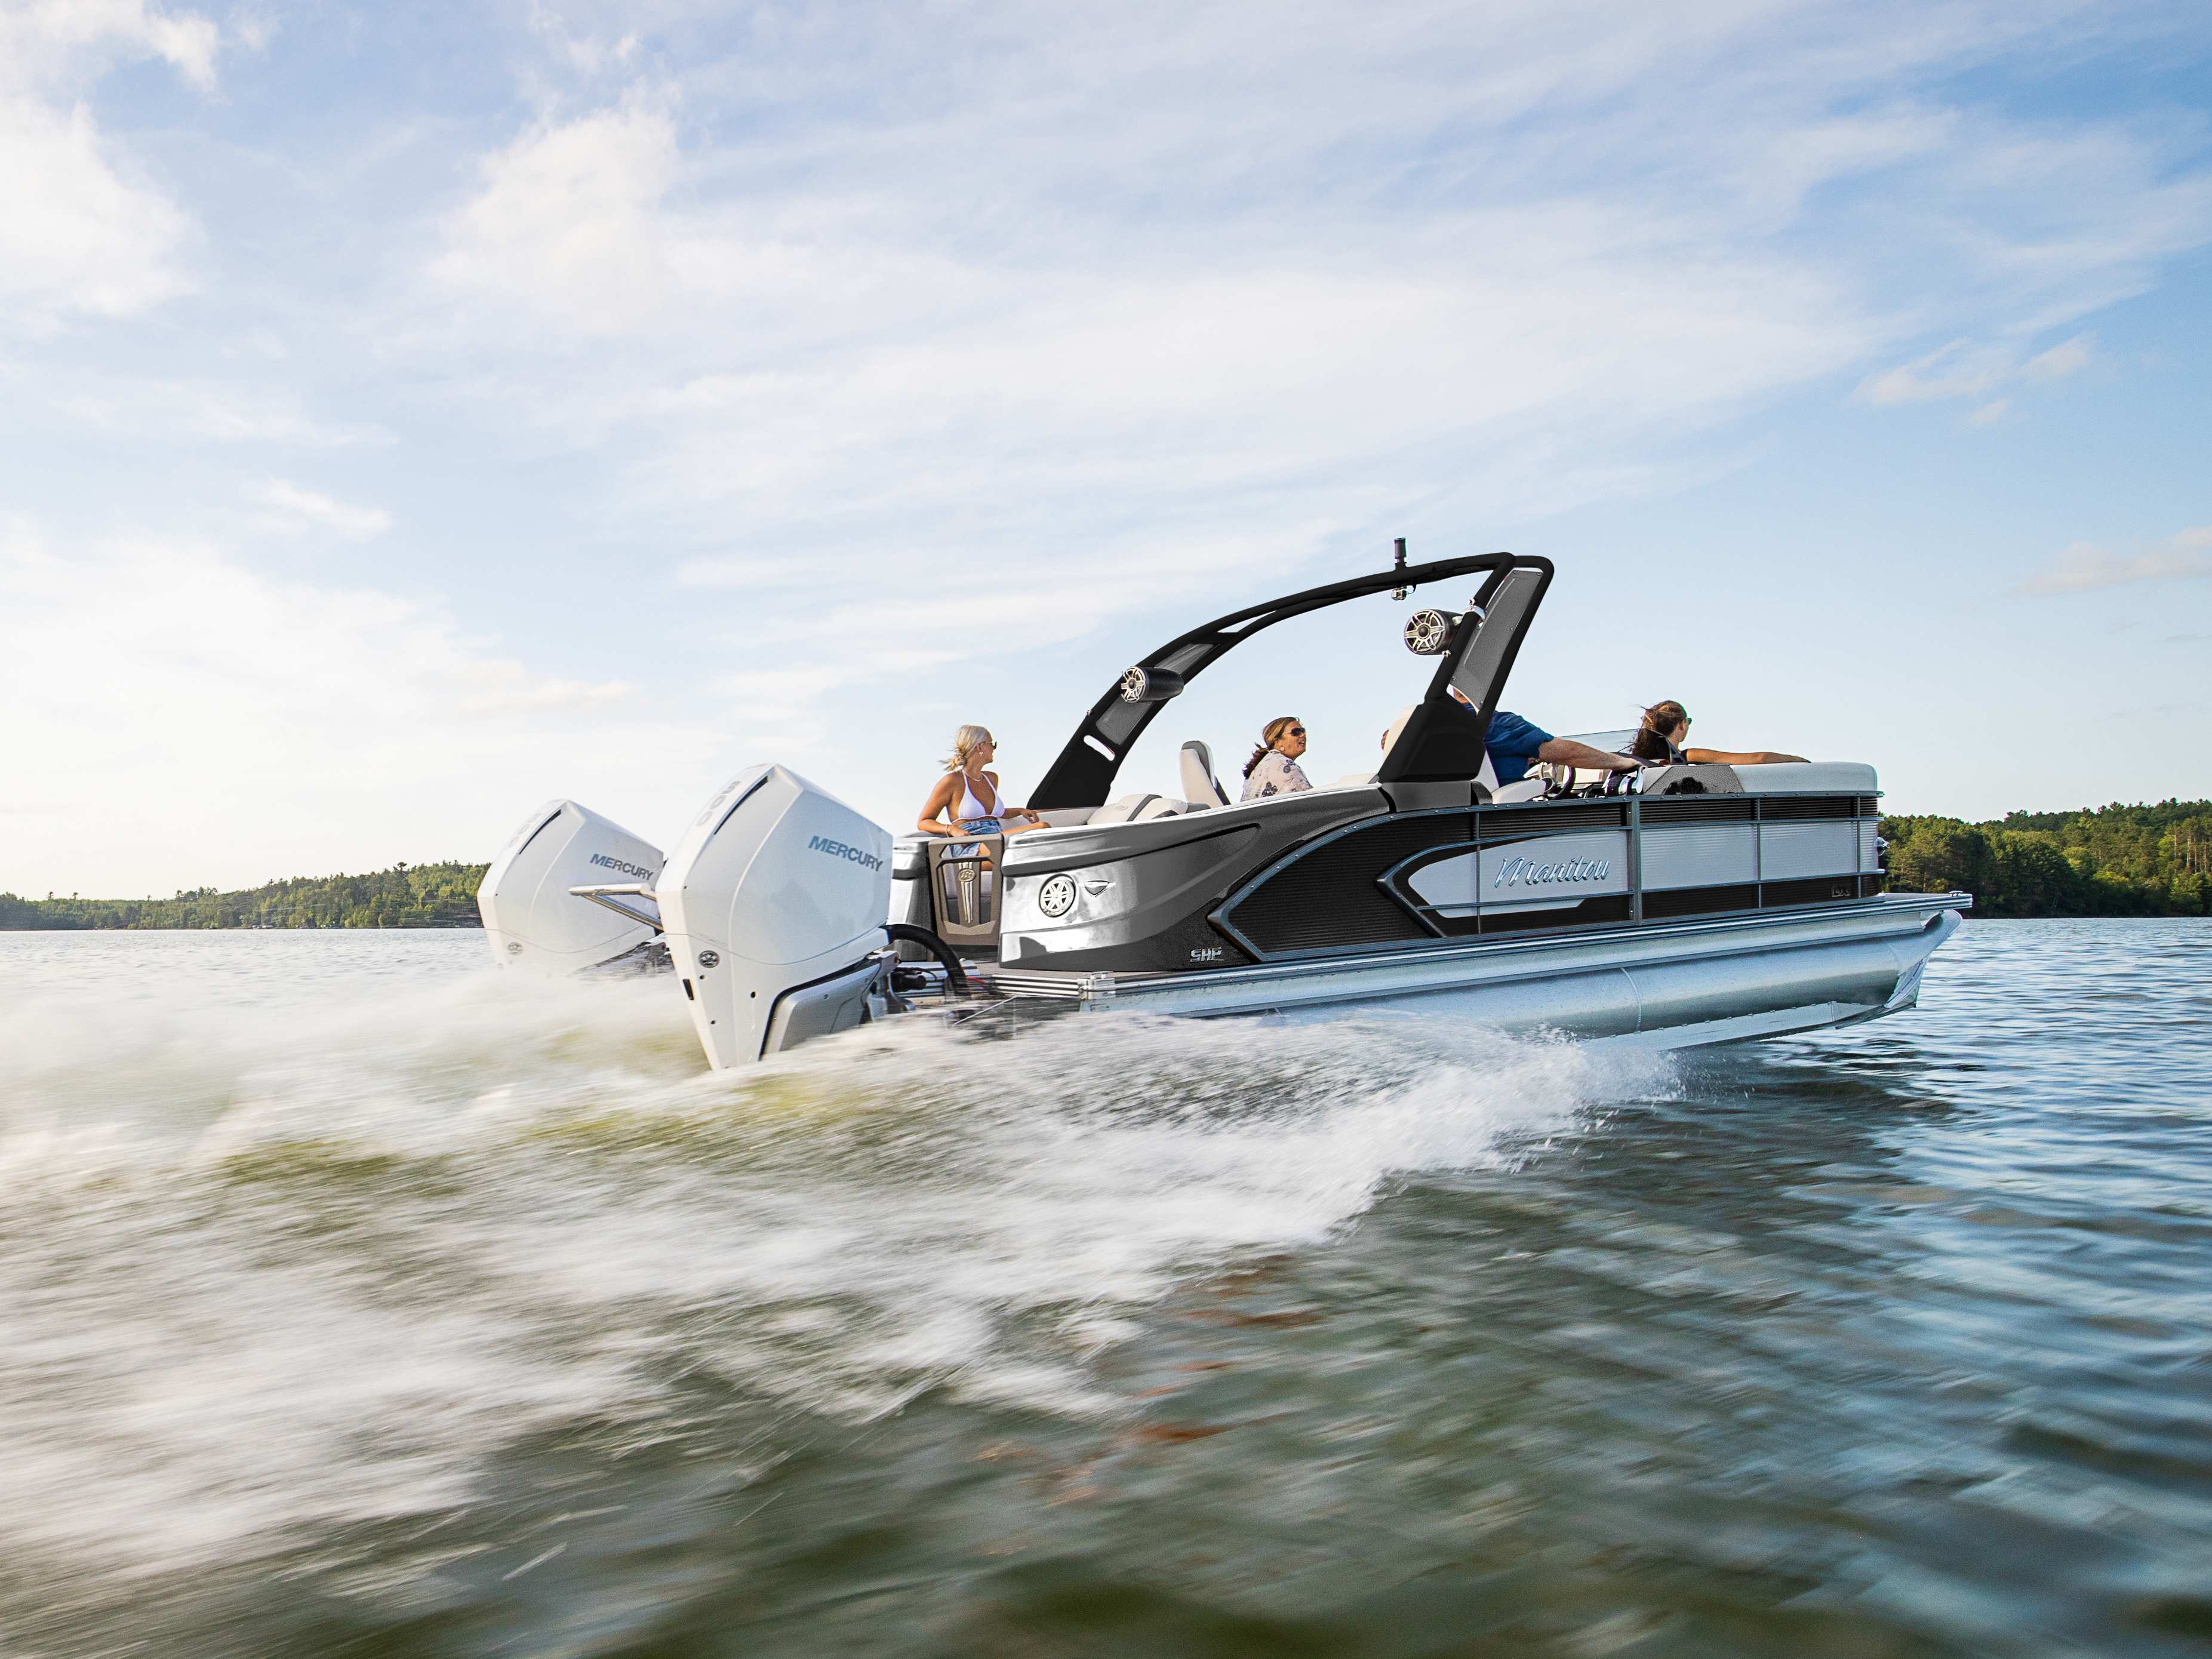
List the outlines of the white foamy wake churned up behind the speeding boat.
{"label": "white foamy wake churned up behind the speeding boat", "polygon": [[0,1071],[0,1548],[93,1575],[436,1515],[533,1433],[1113,1413],[1095,1358],[1179,1279],[1666,1084],[1407,1018],[701,1075],[666,984],[489,971],[18,1000]]}

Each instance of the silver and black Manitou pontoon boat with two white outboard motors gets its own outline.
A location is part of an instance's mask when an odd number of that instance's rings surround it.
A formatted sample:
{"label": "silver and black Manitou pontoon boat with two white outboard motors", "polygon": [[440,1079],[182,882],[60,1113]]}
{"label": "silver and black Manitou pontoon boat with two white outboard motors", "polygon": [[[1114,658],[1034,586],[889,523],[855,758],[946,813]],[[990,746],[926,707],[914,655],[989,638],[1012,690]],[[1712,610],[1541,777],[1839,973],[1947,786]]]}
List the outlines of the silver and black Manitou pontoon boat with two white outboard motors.
{"label": "silver and black Manitou pontoon boat with two white outboard motors", "polygon": [[[484,874],[500,960],[666,960],[717,1068],[922,1009],[1312,1018],[1398,1006],[1688,1048],[1913,1006],[1966,894],[1885,891],[1858,763],[1537,768],[1484,734],[1553,566],[1484,553],[1208,622],[1124,672],[1020,836],[894,836],[783,765],[734,776],[675,854],[553,801]],[[1475,580],[1402,622],[1436,670],[1374,776],[1232,803],[1203,743],[1181,799],[1124,757],[1234,646],[1325,606]],[[1464,699],[1464,701],[1462,701]]]}

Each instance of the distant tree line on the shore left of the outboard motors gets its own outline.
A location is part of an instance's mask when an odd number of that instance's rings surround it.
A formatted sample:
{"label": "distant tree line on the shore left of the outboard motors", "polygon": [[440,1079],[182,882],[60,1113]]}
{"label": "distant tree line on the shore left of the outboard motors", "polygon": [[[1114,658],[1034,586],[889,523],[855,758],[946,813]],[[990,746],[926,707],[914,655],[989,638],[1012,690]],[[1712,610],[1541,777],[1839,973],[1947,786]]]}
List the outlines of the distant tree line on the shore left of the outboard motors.
{"label": "distant tree line on the shore left of the outboard motors", "polygon": [[292,876],[237,894],[175,898],[18,898],[0,894],[0,929],[33,927],[482,927],[484,865],[392,865],[367,876]]}

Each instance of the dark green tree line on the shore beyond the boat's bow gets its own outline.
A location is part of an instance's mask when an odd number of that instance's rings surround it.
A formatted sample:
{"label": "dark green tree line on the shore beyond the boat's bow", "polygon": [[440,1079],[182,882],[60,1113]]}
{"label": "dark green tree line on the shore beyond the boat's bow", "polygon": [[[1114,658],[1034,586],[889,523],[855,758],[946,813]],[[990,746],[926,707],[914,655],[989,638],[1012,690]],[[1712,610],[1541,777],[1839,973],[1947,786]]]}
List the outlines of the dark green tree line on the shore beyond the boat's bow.
{"label": "dark green tree line on the shore beyond the boat's bow", "polygon": [[1898,816],[1882,836],[1891,889],[1960,887],[1975,916],[2212,916],[2212,801]]}

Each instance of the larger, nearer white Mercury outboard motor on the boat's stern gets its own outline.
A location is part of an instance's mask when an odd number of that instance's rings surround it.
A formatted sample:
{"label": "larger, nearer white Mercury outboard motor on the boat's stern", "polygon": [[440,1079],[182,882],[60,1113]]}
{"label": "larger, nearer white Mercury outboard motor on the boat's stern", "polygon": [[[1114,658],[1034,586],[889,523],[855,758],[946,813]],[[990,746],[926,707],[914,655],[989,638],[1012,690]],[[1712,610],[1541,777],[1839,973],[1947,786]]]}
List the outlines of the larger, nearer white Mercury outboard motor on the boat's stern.
{"label": "larger, nearer white Mercury outboard motor on the boat's stern", "polygon": [[891,967],[891,832],[781,765],[739,772],[653,883],[717,1071],[867,1018]]}

